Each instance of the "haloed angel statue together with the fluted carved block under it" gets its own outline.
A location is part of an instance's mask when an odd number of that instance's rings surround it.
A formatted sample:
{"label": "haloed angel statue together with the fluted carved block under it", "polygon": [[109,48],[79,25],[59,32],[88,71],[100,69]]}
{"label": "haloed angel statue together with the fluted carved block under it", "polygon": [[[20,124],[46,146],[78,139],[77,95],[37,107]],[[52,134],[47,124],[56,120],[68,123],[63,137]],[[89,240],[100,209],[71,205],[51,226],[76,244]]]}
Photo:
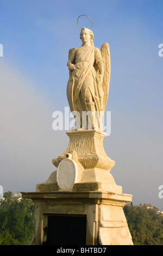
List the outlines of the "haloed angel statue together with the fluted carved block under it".
{"label": "haloed angel statue together with the fluted carved block under it", "polygon": [[60,162],[73,150],[83,168],[111,170],[115,161],[106,155],[103,148],[106,133],[102,126],[109,94],[110,48],[105,42],[99,50],[93,44],[94,35],[90,28],[80,28],[83,44],[69,50],[67,62],[70,71],[67,99],[76,127],[66,132],[70,137],[66,151],[52,161],[58,168]]}

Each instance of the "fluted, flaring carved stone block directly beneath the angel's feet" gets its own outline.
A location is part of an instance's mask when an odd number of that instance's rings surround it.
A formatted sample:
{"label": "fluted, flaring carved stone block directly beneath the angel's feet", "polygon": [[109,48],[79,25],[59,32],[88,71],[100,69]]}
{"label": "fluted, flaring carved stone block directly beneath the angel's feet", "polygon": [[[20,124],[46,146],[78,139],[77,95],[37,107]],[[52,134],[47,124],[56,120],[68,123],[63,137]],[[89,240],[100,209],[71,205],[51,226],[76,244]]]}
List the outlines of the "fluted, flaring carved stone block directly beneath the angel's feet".
{"label": "fluted, flaring carved stone block directly beneath the angel's feet", "polygon": [[55,167],[66,157],[70,151],[76,151],[78,161],[84,168],[101,168],[111,170],[115,161],[111,160],[105,153],[103,147],[104,132],[96,130],[79,130],[66,132],[70,138],[67,150],[52,162]]}

